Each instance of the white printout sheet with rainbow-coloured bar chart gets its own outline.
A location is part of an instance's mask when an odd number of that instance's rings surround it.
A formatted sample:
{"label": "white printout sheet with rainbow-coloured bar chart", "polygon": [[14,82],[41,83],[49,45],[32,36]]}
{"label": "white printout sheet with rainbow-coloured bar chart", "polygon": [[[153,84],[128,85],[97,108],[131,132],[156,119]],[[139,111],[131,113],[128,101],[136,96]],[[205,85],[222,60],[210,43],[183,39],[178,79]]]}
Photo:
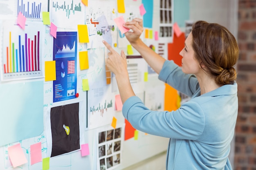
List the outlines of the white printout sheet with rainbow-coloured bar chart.
{"label": "white printout sheet with rainbow-coloured bar chart", "polygon": [[[41,41],[42,31],[35,23],[28,22],[21,30],[13,21],[4,22],[1,79],[31,79],[43,77]],[[32,25],[32,26],[30,26]]]}

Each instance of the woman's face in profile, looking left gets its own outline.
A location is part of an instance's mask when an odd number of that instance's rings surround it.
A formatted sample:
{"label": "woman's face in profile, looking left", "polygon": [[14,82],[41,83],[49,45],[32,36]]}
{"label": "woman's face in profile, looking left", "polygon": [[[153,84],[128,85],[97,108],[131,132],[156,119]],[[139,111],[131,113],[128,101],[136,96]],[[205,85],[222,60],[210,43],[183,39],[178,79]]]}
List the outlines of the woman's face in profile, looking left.
{"label": "woman's face in profile, looking left", "polygon": [[201,70],[199,62],[194,57],[194,50],[192,47],[192,33],[186,38],[185,46],[180,51],[182,56],[182,71],[186,74],[195,74]]}

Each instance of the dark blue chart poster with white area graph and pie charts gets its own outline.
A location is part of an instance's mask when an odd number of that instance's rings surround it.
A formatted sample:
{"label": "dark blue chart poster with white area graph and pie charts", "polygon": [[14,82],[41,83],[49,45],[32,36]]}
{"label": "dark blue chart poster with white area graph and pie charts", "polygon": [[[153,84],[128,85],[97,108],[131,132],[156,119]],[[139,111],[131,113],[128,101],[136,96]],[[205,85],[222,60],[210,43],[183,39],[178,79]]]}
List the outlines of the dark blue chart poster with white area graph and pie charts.
{"label": "dark blue chart poster with white area graph and pie charts", "polygon": [[56,80],[53,102],[76,98],[77,32],[57,32],[53,42]]}

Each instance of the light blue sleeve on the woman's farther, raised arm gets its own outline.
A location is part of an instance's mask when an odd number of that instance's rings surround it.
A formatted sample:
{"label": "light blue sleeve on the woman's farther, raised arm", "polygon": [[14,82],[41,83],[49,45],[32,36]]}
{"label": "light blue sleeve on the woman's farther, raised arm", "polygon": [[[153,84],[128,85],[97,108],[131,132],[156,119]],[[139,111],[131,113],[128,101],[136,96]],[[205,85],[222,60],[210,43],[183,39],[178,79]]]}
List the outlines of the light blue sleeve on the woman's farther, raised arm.
{"label": "light blue sleeve on the woman's farther, raised arm", "polygon": [[164,62],[158,78],[189,97],[199,88],[195,75],[183,73],[182,68],[172,60]]}

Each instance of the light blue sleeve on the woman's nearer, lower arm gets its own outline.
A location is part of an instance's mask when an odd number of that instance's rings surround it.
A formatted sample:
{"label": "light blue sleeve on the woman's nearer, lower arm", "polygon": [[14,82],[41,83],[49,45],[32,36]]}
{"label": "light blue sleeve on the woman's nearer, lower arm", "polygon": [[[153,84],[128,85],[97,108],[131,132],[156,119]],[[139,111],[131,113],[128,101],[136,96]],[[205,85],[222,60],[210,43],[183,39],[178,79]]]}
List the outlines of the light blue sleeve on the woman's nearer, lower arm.
{"label": "light blue sleeve on the woman's nearer, lower arm", "polygon": [[179,109],[152,111],[139,97],[132,96],[123,105],[123,115],[137,130],[161,137],[198,139],[204,130],[205,117],[200,105],[186,102]]}

